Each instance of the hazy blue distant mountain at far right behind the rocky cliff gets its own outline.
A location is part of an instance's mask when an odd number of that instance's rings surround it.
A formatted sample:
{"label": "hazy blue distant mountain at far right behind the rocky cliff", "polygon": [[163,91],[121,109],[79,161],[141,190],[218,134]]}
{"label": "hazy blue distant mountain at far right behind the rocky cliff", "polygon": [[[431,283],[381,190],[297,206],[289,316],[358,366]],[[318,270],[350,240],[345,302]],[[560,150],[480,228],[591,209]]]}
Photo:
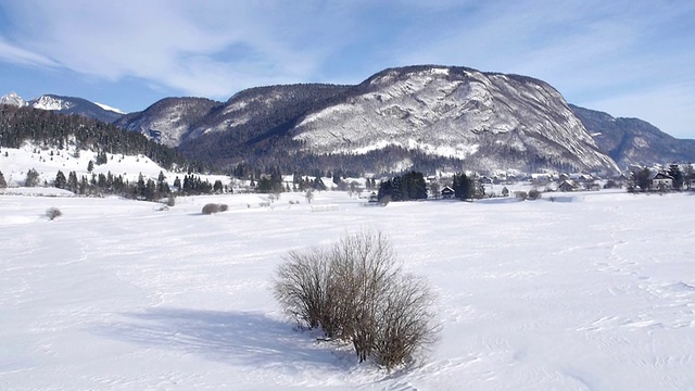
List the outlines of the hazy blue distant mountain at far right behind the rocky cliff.
{"label": "hazy blue distant mountain at far right behind the rocky cliff", "polygon": [[615,118],[604,112],[569,106],[598,148],[620,167],[695,160],[695,140],[677,139],[639,118]]}

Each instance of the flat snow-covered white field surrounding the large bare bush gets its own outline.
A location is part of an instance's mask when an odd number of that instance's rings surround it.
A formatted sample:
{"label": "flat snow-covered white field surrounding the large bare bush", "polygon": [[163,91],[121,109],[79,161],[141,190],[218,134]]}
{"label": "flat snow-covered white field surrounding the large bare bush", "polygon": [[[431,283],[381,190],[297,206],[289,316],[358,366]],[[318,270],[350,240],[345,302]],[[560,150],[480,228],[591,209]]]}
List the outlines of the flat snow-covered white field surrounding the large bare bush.
{"label": "flat snow-covered white field surrounding the large bare bush", "polygon": [[[690,194],[264,201],[0,194],[0,389],[695,389]],[[271,297],[288,251],[365,228],[439,295],[440,342],[409,370],[293,330]]]}

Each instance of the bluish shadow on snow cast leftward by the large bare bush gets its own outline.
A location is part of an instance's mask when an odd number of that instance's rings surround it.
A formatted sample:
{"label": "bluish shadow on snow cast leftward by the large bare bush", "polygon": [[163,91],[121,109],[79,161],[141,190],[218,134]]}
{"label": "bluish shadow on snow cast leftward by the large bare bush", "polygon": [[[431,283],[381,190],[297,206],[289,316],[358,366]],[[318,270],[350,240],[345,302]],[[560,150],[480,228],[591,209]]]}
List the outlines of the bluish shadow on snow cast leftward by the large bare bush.
{"label": "bluish shadow on snow cast leftward by the large bare bush", "polygon": [[319,344],[311,333],[298,332],[291,324],[260,313],[152,308],[123,315],[130,321],[104,325],[97,332],[147,348],[254,368],[344,368],[354,361],[329,344]]}

